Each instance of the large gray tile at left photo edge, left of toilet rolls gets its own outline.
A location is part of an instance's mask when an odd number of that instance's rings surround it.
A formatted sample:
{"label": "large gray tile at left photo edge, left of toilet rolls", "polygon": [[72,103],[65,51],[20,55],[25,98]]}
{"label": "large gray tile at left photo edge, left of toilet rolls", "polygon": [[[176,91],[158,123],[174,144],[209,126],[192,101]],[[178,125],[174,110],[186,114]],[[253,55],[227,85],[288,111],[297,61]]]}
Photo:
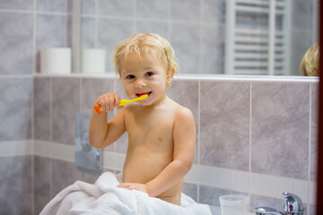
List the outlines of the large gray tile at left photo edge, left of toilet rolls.
{"label": "large gray tile at left photo edge, left of toilet rolls", "polygon": [[33,72],[32,23],[31,14],[0,13],[0,74]]}

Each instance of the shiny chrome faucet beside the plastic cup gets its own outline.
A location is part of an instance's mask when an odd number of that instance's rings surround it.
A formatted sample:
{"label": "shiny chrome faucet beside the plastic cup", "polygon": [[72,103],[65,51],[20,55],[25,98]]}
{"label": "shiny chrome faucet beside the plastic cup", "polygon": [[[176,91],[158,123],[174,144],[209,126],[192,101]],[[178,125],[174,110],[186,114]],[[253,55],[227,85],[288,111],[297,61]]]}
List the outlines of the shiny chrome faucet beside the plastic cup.
{"label": "shiny chrome faucet beside the plastic cup", "polygon": [[255,209],[256,215],[303,215],[304,207],[301,198],[292,193],[283,193],[285,203],[283,212],[273,208],[258,207]]}

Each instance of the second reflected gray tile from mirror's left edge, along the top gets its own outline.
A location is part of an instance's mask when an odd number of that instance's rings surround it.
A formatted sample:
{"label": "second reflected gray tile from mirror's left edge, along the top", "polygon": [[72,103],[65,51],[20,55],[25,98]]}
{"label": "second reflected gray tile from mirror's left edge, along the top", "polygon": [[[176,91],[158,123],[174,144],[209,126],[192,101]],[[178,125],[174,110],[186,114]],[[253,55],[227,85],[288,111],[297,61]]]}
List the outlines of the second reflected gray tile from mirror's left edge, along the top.
{"label": "second reflected gray tile from mirror's left edge, along the top", "polygon": [[132,17],[134,15],[134,4],[134,0],[99,0],[98,14]]}

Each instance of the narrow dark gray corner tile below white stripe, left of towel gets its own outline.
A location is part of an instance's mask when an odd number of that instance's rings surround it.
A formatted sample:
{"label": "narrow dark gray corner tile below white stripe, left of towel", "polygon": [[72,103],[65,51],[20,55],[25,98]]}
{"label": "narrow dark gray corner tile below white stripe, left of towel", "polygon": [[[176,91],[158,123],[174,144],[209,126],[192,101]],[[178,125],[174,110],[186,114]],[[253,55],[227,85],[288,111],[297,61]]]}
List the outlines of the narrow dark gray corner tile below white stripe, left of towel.
{"label": "narrow dark gray corner tile below white stripe, left of towel", "polygon": [[34,207],[35,214],[40,211],[51,200],[50,198],[50,171],[51,159],[34,156]]}

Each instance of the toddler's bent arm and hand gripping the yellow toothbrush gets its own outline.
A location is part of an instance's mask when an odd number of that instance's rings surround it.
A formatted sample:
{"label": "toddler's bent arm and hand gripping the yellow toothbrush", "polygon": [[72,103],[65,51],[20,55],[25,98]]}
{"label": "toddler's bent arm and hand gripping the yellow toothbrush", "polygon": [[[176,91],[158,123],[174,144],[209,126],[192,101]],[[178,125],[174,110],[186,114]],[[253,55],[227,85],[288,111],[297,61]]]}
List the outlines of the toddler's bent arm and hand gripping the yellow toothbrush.
{"label": "toddler's bent arm and hand gripping the yellow toothbrush", "polygon": [[107,122],[109,111],[118,107],[120,98],[117,94],[109,92],[101,95],[95,104],[100,104],[102,112],[98,114],[94,109],[89,125],[89,141],[94,148],[103,148],[118,140],[125,133],[124,108],[121,108],[116,116]]}

